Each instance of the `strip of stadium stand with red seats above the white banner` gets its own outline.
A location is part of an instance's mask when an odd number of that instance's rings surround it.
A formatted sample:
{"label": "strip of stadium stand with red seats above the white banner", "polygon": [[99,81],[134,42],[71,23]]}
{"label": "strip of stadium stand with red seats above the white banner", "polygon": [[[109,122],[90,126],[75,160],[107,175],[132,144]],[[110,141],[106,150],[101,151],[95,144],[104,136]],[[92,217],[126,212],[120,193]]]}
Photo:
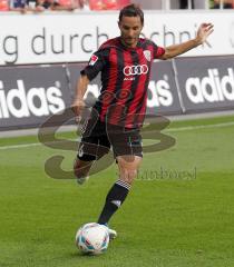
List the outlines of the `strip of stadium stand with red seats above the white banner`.
{"label": "strip of stadium stand with red seats above the white banner", "polygon": [[234,0],[0,0],[0,11],[119,10],[135,2],[145,10],[233,9]]}

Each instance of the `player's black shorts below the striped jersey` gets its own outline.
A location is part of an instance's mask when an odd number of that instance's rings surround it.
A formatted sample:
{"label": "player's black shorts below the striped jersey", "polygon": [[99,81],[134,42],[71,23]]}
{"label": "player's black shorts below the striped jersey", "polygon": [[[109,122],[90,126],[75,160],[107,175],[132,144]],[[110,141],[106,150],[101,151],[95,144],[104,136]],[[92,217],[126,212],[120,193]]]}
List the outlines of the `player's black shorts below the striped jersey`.
{"label": "player's black shorts below the striped jersey", "polygon": [[88,121],[82,132],[77,158],[84,161],[97,160],[113,148],[114,157],[135,155],[143,157],[139,129]]}

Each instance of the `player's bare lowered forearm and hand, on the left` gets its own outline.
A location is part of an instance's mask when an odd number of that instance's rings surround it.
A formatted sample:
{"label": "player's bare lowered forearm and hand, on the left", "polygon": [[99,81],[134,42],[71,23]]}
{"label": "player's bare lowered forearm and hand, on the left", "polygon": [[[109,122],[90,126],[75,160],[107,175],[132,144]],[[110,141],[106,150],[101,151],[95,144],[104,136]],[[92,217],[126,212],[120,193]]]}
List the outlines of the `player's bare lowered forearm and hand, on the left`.
{"label": "player's bare lowered forearm and hand, on the left", "polygon": [[72,102],[72,110],[77,117],[81,116],[82,109],[85,108],[84,96],[87,91],[89,79],[87,75],[81,75],[77,81],[75,99]]}

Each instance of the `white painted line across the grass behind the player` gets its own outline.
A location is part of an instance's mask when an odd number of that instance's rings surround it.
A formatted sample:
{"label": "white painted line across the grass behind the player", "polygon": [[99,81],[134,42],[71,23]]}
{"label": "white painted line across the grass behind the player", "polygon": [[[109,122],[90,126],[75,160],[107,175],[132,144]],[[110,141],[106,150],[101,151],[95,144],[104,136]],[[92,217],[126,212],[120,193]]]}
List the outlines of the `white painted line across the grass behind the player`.
{"label": "white painted line across the grass behind the player", "polygon": [[[169,132],[173,132],[173,131],[186,131],[186,130],[196,130],[196,129],[205,129],[205,128],[220,128],[220,127],[228,127],[228,126],[234,126],[234,121],[216,123],[216,125],[201,125],[201,126],[177,127],[177,128],[165,129],[165,131],[169,131]],[[69,141],[75,141],[75,140],[77,140],[77,139],[69,139]],[[52,141],[50,144],[57,144],[57,142],[60,142],[60,141]],[[61,140],[61,142],[64,142],[64,141]],[[43,144],[41,144],[41,142],[31,142],[31,144],[2,146],[2,147],[0,146],[0,150],[16,149],[16,148],[38,147],[38,146],[42,146],[42,145]]]}

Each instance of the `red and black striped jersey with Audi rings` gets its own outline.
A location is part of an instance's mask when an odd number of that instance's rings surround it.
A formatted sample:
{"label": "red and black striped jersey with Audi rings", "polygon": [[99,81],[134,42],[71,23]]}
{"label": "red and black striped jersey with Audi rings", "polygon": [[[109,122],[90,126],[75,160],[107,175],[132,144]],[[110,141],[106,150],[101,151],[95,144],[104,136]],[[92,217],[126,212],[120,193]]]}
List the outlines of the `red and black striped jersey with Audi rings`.
{"label": "red and black striped jersey with Audi rings", "polygon": [[92,80],[101,72],[100,96],[94,106],[101,121],[126,128],[143,125],[152,62],[164,52],[152,40],[140,38],[136,48],[127,48],[117,37],[91,56],[81,75]]}

